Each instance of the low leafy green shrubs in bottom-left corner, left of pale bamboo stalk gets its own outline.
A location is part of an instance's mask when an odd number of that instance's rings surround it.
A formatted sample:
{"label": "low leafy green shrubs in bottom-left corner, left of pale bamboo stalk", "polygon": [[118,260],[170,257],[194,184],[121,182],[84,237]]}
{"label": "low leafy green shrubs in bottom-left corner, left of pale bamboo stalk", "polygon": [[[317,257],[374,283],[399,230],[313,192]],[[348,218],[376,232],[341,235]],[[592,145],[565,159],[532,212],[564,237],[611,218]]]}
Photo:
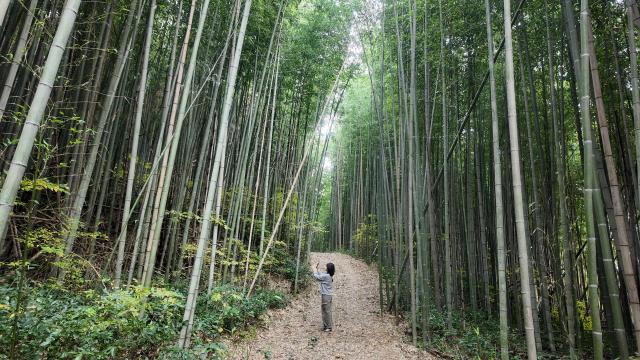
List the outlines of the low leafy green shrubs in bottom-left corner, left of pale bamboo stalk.
{"label": "low leafy green shrubs in bottom-left corner, left of pale bamboo stalk", "polygon": [[165,289],[134,288],[101,295],[43,286],[26,294],[27,306],[16,314],[12,293],[0,288],[0,348],[11,349],[13,319],[18,316],[18,358],[151,355],[173,341],[184,308],[182,295]]}

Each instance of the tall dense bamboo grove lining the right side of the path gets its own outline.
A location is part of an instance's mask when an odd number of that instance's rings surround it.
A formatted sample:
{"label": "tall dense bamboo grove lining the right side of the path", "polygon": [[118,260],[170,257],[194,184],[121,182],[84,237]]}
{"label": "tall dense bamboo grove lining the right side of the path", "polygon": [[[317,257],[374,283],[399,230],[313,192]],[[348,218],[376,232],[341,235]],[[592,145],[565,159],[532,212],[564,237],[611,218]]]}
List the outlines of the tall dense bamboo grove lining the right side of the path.
{"label": "tall dense bamboo grove lining the right side of the path", "polygon": [[368,4],[315,246],[375,261],[427,349],[630,356],[637,2]]}

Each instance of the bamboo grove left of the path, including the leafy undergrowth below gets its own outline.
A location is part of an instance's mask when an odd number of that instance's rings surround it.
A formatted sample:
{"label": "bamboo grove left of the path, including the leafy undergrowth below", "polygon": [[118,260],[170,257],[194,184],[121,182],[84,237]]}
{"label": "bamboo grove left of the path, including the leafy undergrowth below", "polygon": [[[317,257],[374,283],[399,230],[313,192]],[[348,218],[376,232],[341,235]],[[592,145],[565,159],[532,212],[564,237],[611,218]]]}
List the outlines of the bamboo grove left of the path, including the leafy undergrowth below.
{"label": "bamboo grove left of the path, including the leafy undergrowth below", "polygon": [[213,354],[304,289],[354,8],[0,2],[0,356]]}

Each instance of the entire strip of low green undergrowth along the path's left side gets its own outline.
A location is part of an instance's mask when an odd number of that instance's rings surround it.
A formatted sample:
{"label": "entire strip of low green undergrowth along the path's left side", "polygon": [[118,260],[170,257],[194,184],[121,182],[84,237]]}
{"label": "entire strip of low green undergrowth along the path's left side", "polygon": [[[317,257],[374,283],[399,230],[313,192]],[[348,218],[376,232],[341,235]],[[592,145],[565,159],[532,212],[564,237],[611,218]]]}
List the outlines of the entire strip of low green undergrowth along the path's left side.
{"label": "entire strip of low green undergrowth along the path's left side", "polygon": [[192,346],[175,348],[186,295],[167,288],[82,292],[30,284],[16,310],[16,288],[0,285],[0,358],[191,359],[224,356],[221,336],[287,305],[277,291],[220,286],[198,298]]}

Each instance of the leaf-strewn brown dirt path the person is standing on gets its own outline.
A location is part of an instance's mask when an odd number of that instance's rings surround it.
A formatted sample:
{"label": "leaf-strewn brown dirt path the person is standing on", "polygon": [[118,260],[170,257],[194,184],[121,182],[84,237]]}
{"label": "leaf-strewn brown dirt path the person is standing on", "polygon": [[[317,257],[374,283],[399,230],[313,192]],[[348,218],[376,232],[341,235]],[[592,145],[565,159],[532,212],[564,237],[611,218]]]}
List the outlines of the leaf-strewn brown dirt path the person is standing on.
{"label": "leaf-strewn brown dirt path the person is standing on", "polygon": [[320,295],[313,284],[287,308],[269,313],[255,338],[230,345],[232,359],[431,359],[402,334],[389,315],[380,316],[378,273],[339,253],[312,253],[311,263],[336,265],[332,333],[322,332]]}

